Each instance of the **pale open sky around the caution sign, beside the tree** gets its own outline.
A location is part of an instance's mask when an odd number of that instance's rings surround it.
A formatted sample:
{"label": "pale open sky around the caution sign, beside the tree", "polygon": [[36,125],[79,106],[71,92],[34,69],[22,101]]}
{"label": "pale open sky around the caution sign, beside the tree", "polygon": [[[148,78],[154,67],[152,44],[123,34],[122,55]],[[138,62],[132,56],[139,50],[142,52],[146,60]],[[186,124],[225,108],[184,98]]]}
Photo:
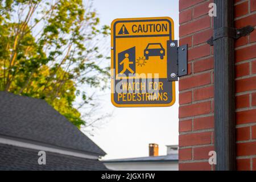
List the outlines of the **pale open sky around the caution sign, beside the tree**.
{"label": "pale open sky around the caution sign, beside the tree", "polygon": [[[116,18],[169,16],[175,22],[175,39],[179,37],[178,0],[94,0],[93,4],[102,25],[110,26]],[[159,155],[166,155],[166,145],[178,144],[177,88],[178,82],[173,106],[150,108],[114,107],[110,101],[110,90],[107,90],[101,98],[103,112],[113,111],[113,116],[94,132],[93,137],[88,136],[107,153],[103,159],[148,156],[149,143],[159,144]]]}

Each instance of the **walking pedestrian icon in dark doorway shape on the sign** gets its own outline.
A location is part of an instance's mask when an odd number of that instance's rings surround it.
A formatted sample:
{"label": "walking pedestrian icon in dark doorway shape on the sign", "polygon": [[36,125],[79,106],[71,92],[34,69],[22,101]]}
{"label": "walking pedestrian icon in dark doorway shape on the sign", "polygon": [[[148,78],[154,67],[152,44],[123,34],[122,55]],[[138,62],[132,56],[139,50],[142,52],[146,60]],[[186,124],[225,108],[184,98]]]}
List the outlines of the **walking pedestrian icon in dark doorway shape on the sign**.
{"label": "walking pedestrian icon in dark doorway shape on the sign", "polygon": [[118,53],[118,73],[129,76],[136,72],[135,47]]}

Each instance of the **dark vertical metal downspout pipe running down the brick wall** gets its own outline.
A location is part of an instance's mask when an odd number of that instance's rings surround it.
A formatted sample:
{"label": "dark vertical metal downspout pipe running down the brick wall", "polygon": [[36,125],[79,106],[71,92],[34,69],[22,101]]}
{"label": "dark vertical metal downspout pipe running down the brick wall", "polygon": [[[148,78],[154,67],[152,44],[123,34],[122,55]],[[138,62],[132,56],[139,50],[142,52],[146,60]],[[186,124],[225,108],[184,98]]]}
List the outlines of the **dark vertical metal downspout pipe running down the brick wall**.
{"label": "dark vertical metal downspout pipe running down the brick wall", "polygon": [[236,170],[233,0],[214,0],[214,132],[217,171]]}

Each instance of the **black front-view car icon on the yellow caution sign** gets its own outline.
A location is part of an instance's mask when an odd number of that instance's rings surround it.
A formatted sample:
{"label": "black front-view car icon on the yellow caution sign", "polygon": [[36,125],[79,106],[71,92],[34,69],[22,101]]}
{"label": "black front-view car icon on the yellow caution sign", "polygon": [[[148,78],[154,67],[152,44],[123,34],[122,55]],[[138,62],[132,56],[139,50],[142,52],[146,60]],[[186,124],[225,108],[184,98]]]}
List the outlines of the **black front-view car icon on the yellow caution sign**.
{"label": "black front-view car icon on the yellow caution sign", "polygon": [[165,53],[166,52],[160,43],[149,43],[147,44],[146,49],[144,49],[146,60],[148,60],[148,57],[150,56],[160,56],[160,59],[163,59]]}

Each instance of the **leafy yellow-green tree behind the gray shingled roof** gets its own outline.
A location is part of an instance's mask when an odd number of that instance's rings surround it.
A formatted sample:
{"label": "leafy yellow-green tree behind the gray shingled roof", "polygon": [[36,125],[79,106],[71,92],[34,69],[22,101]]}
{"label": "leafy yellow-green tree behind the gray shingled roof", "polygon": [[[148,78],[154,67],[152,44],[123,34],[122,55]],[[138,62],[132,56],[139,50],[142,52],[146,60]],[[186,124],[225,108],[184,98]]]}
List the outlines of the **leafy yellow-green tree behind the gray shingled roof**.
{"label": "leafy yellow-green tree behind the gray shingled roof", "polygon": [[[0,90],[42,98],[77,127],[93,106],[89,89],[106,88],[109,68],[98,43],[109,27],[90,1],[5,0],[0,3]],[[103,84],[102,84],[103,83]]]}

